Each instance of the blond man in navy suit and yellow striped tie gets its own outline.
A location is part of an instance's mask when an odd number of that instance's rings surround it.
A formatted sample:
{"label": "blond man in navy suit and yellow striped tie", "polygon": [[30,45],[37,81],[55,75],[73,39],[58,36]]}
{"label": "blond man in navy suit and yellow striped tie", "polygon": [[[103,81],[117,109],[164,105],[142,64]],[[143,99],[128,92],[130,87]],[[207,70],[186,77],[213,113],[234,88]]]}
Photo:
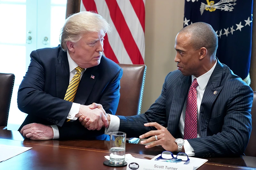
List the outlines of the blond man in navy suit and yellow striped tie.
{"label": "blond man in navy suit and yellow striped tie", "polygon": [[[108,140],[105,116],[115,114],[122,69],[102,56],[111,27],[99,14],[79,12],[67,18],[55,48],[32,51],[18,91],[18,107],[27,113],[19,131],[33,140]],[[91,109],[93,102],[101,104]],[[88,126],[77,118],[88,117]],[[87,129],[86,129],[87,128]],[[89,131],[97,129],[98,131]]]}

